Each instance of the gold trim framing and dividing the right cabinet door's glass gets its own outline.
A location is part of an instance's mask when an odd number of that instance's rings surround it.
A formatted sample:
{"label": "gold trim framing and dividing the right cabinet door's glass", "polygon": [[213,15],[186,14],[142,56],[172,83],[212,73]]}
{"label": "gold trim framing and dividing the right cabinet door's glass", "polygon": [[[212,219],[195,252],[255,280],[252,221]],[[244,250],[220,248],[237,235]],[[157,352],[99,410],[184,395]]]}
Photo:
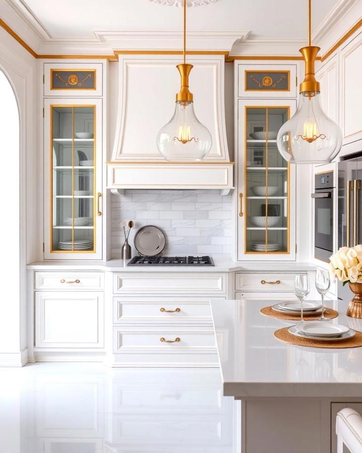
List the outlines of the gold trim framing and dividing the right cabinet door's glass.
{"label": "gold trim framing and dividing the right cabinet door's glass", "polygon": [[[283,105],[246,105],[244,106],[244,192],[247,194],[247,184],[246,184],[246,162],[247,162],[247,129],[246,129],[246,123],[247,123],[247,109],[265,109],[265,115],[266,115],[266,118],[267,118],[267,110],[268,109],[286,109],[287,110],[287,113],[288,113],[288,119],[290,118],[290,106],[289,105],[286,105],[286,106],[283,106]],[[267,132],[267,129],[266,129],[266,132]],[[267,141],[265,142],[265,153],[266,153],[266,159],[267,159]],[[266,164],[267,164],[267,161],[266,161]],[[245,203],[245,207],[244,207],[244,210],[245,210],[245,221],[244,221],[244,255],[288,255],[290,253],[290,164],[287,163],[287,181],[288,181],[288,185],[287,185],[287,250],[286,251],[281,251],[281,252],[275,252],[275,251],[271,251],[271,252],[254,252],[254,251],[248,251],[247,250],[247,242],[246,242],[246,239],[247,239],[247,203]],[[265,172],[266,172],[266,175],[267,175],[267,166],[265,167]],[[265,185],[267,187],[267,180],[265,182]],[[266,196],[265,196],[265,216],[266,216],[266,226],[265,226],[265,236],[266,236],[266,239],[267,239],[267,192],[266,192]],[[265,244],[265,248],[266,248],[266,245]]]}

